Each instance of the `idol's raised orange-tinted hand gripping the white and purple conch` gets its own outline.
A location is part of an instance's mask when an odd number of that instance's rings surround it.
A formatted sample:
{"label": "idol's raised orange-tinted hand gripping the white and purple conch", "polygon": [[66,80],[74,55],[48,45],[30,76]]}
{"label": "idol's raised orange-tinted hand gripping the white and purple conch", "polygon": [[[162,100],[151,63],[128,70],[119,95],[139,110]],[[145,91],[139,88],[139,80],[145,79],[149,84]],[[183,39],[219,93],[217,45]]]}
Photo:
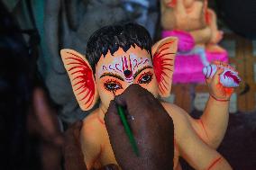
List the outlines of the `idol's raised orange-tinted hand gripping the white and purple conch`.
{"label": "idol's raised orange-tinted hand gripping the white and purple conch", "polygon": [[236,72],[236,70],[229,66],[228,64],[221,62],[221,61],[214,61],[213,64],[217,66],[217,71],[215,75],[211,78],[206,78],[206,84],[209,89],[209,93],[215,100],[218,101],[229,101],[231,95],[233,94],[234,88],[233,87],[225,87],[220,83],[220,75],[224,72],[224,68],[228,67]]}

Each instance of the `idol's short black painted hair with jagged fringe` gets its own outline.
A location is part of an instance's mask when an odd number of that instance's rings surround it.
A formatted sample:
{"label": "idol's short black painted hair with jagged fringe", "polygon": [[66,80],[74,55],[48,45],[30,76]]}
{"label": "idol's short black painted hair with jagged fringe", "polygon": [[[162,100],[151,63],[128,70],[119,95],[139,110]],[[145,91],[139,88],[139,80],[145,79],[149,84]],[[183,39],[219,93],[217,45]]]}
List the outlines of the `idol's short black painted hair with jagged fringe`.
{"label": "idol's short black painted hair with jagged fringe", "polygon": [[152,40],[150,33],[137,23],[124,23],[105,26],[95,31],[87,42],[86,56],[94,73],[101,55],[108,51],[113,55],[122,48],[124,52],[137,45],[151,54]]}

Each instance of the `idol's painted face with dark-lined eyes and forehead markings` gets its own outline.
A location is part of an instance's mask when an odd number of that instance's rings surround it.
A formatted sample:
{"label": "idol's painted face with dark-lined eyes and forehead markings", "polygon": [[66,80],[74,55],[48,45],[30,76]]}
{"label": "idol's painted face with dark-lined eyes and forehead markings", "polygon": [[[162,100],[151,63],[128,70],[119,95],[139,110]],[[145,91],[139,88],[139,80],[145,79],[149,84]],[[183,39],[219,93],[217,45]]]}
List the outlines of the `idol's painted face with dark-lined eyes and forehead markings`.
{"label": "idol's painted face with dark-lined eyes and forehead markings", "polygon": [[151,55],[138,46],[126,52],[118,49],[112,56],[108,52],[102,55],[96,64],[96,88],[105,109],[114,95],[133,84],[139,84],[154,96],[158,95],[158,85],[154,74]]}

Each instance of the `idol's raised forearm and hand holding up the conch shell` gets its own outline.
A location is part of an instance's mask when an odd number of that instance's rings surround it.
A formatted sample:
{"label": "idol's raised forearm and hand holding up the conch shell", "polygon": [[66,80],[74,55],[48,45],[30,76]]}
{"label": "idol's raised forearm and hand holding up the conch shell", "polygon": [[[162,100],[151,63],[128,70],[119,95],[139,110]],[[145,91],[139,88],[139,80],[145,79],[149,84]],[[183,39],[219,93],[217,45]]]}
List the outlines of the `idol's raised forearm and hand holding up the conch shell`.
{"label": "idol's raised forearm and hand holding up the conch shell", "polygon": [[[214,64],[217,66],[222,65],[224,67],[230,67],[220,61],[215,61]],[[233,69],[233,67],[230,68]],[[229,100],[234,90],[231,87],[224,87],[220,84],[219,76],[223,71],[224,70],[219,67],[213,78],[206,79],[210,96],[203,115],[197,121],[202,129],[205,130],[206,143],[211,148],[218,148],[224,139],[229,119]]]}

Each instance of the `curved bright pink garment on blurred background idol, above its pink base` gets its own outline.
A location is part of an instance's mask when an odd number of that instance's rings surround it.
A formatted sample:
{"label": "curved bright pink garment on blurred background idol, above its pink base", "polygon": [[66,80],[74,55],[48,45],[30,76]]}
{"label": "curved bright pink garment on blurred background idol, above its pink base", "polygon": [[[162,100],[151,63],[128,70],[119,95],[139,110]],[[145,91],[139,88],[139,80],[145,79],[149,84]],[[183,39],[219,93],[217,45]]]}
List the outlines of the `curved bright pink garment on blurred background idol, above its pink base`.
{"label": "curved bright pink garment on blurred background idol, above its pink base", "polygon": [[194,48],[195,41],[193,37],[190,35],[190,33],[187,33],[187,31],[162,31],[162,38],[166,37],[178,37],[178,51],[189,51]]}

